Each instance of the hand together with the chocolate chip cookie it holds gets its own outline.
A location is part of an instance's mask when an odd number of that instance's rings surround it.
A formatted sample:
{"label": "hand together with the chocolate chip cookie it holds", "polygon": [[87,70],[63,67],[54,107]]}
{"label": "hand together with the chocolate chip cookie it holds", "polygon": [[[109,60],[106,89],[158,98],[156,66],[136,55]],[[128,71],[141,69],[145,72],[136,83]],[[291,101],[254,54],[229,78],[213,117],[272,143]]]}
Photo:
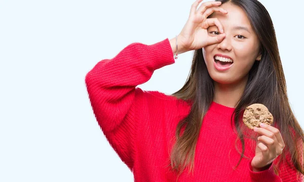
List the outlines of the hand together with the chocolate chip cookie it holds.
{"label": "hand together with the chocolate chip cookie it holds", "polygon": [[[245,125],[260,134],[257,138],[255,156],[251,161],[253,171],[268,169],[272,162],[282,154],[285,147],[279,129],[271,126],[273,116],[262,104],[252,104],[244,112]],[[260,126],[260,127],[259,127]]]}

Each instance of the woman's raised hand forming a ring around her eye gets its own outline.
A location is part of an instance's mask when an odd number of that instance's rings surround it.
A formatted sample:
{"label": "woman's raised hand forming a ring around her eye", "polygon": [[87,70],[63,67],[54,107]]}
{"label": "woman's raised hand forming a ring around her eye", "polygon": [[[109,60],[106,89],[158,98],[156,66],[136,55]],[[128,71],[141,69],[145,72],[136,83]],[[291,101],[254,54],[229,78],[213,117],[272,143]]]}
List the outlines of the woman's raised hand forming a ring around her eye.
{"label": "woman's raised hand forming a ring around her eye", "polygon": [[[217,18],[208,18],[213,12],[220,12],[227,14],[228,12],[218,7],[221,5],[221,2],[206,2],[203,3],[199,9],[197,7],[203,0],[197,0],[191,6],[189,18],[182,28],[181,32],[178,35],[178,42],[181,44],[183,52],[190,50],[201,49],[205,46],[219,43],[225,37],[223,32],[222,24],[218,21]],[[207,28],[209,26],[216,25],[219,29],[218,36],[209,36]]]}

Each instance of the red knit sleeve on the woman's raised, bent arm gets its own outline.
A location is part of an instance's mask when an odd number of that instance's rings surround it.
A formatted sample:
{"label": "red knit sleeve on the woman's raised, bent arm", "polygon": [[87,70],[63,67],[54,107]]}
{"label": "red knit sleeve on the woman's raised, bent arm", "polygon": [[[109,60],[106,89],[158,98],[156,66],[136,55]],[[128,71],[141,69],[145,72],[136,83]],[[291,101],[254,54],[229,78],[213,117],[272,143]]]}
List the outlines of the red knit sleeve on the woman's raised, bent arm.
{"label": "red knit sleeve on the woman's raised, bent arm", "polygon": [[[133,171],[143,91],[154,70],[173,64],[168,39],[153,45],[132,43],[112,59],[99,61],[85,83],[95,118],[111,147]],[[138,112],[139,111],[139,112]]]}

